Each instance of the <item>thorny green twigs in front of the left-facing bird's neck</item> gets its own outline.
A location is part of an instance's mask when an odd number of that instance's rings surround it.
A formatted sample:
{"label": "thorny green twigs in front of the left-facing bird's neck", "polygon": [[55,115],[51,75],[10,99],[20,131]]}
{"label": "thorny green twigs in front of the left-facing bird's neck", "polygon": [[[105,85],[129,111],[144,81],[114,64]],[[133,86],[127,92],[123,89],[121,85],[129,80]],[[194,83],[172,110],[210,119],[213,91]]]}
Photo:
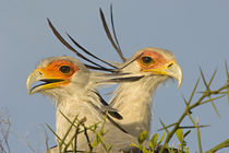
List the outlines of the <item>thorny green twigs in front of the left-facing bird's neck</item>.
{"label": "thorny green twigs in front of the left-facing bird's neck", "polygon": [[[61,113],[61,111],[60,111]],[[101,146],[104,148],[104,150],[106,152],[109,152],[111,149],[110,144],[107,144],[105,142],[105,138],[104,136],[106,134],[106,131],[104,130],[105,127],[105,122],[106,122],[106,118],[104,119],[103,122],[97,122],[94,123],[93,126],[85,126],[85,121],[86,121],[86,117],[84,117],[83,119],[79,119],[79,116],[76,115],[75,118],[73,119],[73,121],[71,121],[63,113],[61,113],[62,116],[70,122],[70,127],[68,129],[68,131],[65,132],[64,137],[61,139],[52,129],[49,125],[47,125],[47,127],[52,131],[52,133],[57,137],[58,139],[58,150],[59,152],[93,152],[93,150],[98,145],[101,144]],[[75,133],[71,137],[71,140],[69,142],[65,142],[67,137],[70,134],[71,130],[75,130]],[[92,141],[89,136],[88,136],[88,131],[92,131],[95,134],[95,139]],[[89,150],[84,150],[84,151],[80,151],[77,150],[77,136],[83,133],[87,140],[87,144]],[[48,152],[51,152],[50,150]]]}

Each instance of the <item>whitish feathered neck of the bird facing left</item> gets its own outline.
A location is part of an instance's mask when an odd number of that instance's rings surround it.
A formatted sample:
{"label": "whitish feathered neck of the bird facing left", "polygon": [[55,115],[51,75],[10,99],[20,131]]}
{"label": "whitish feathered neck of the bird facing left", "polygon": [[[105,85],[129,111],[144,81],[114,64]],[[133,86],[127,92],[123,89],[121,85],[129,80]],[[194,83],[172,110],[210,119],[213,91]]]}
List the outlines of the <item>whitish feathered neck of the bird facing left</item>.
{"label": "whitish feathered neck of the bird facing left", "polygon": [[[88,78],[89,80],[91,78]],[[95,83],[87,81],[83,83],[80,79],[73,80],[71,84],[67,86],[61,86],[52,89],[52,91],[47,91],[46,94],[55,101],[57,106],[56,111],[56,133],[62,139],[67,134],[71,123],[69,120],[77,116],[77,119],[81,120],[86,117],[85,125],[92,126],[94,123],[103,121],[103,114],[99,109],[98,96],[95,94]],[[95,108],[94,106],[98,106]],[[65,118],[64,116],[68,118]],[[77,121],[79,122],[79,121]],[[68,143],[72,136],[75,133],[75,128],[73,128],[69,137],[67,137],[65,142]],[[84,140],[84,136],[80,134],[79,140]],[[86,142],[86,141],[83,141]],[[79,145],[81,143],[79,142]]]}

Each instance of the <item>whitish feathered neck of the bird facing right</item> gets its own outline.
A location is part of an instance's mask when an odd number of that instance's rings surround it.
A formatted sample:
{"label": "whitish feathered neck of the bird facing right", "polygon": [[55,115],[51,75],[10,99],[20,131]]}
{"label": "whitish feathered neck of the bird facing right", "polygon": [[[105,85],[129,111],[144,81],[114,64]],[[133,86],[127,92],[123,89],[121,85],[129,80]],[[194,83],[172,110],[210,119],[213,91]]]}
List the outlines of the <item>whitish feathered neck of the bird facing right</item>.
{"label": "whitish feathered neck of the bird facing right", "polygon": [[144,76],[140,81],[121,83],[111,99],[113,108],[122,115],[117,120],[131,134],[137,137],[142,131],[150,129],[152,105],[156,87],[167,76]]}

